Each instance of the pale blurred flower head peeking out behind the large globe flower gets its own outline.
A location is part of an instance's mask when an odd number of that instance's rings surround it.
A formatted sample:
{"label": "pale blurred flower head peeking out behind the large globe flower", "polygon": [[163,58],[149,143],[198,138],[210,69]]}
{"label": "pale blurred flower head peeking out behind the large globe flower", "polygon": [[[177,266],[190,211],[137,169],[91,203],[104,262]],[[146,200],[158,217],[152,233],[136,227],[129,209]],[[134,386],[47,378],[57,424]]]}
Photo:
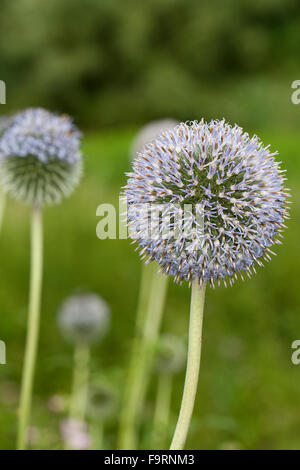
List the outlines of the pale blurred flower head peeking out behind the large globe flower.
{"label": "pale blurred flower head peeking out behind the large globe flower", "polygon": [[130,159],[132,160],[138,152],[141,152],[146,144],[157,139],[163,130],[173,129],[177,124],[179,122],[175,119],[158,119],[143,126],[133,139]]}

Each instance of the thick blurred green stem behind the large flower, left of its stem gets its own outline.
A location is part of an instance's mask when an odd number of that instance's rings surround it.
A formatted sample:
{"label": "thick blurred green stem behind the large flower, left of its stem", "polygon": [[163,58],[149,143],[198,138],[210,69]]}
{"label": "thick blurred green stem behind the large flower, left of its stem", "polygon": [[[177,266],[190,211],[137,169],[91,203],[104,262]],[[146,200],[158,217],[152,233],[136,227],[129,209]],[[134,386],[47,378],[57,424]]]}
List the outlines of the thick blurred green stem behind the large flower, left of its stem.
{"label": "thick blurred green stem behind the large flower, left of its stem", "polygon": [[157,275],[157,264],[152,264],[150,282],[147,281],[145,271],[142,276],[137,331],[120,417],[119,449],[129,450],[135,449],[137,446],[137,421],[144,404],[154,344],[157,342],[165,305],[168,279],[165,276]]}

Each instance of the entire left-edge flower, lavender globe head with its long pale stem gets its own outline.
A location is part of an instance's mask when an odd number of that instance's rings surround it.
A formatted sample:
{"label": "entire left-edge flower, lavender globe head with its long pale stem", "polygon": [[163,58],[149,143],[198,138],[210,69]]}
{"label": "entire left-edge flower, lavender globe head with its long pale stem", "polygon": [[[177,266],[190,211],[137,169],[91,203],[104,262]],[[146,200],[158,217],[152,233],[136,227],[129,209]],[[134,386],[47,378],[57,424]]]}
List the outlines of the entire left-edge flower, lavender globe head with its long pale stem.
{"label": "entire left-edge flower, lavender globe head with its long pale stem", "polygon": [[42,207],[68,196],[79,182],[80,134],[71,119],[41,108],[16,114],[0,139],[0,184],[32,205],[29,315],[17,447],[26,448],[37,356],[43,275]]}

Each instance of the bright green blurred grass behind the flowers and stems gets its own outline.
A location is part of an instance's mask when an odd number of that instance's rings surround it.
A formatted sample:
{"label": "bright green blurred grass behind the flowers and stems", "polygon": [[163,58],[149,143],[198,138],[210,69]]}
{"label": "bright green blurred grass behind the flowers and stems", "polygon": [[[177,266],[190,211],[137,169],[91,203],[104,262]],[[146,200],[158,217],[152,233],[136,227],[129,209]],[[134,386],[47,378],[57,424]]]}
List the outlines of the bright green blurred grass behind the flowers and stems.
{"label": "bright green blurred grass behind the flowers and stems", "polygon": [[[264,269],[233,288],[208,289],[199,393],[188,438],[191,449],[299,449],[300,366],[291,362],[291,344],[300,337],[299,254],[300,159],[297,135],[258,132],[278,149],[292,189],[289,228],[283,246]],[[133,132],[88,134],[86,172],[74,195],[45,210],[45,270],[41,336],[34,387],[33,448],[61,448],[59,423],[49,397],[67,397],[72,347],[57,330],[56,312],[77,289],[103,296],[112,309],[108,337],[92,351],[92,376],[123,389],[134,333],[141,263],[128,240],[96,237],[96,208],[117,203]],[[29,275],[28,209],[9,201],[0,238],[0,339],[7,364],[0,365],[0,448],[15,446],[18,392],[24,352]],[[186,339],[189,289],[170,283],[163,330]],[[175,379],[174,428],[184,374]],[[149,446],[156,380],[142,416],[142,447]],[[106,426],[106,448],[116,443],[117,418]]]}

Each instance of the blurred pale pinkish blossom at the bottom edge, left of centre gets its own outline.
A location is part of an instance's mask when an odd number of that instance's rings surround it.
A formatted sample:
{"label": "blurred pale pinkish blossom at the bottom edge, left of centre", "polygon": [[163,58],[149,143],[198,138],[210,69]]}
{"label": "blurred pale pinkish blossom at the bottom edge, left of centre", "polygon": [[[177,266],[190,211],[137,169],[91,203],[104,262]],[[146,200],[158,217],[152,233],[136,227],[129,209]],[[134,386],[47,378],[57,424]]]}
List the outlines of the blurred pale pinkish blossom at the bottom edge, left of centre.
{"label": "blurred pale pinkish blossom at the bottom edge, left of centre", "polygon": [[91,437],[87,425],[76,419],[65,419],[60,424],[62,439],[71,450],[86,450],[91,445]]}

